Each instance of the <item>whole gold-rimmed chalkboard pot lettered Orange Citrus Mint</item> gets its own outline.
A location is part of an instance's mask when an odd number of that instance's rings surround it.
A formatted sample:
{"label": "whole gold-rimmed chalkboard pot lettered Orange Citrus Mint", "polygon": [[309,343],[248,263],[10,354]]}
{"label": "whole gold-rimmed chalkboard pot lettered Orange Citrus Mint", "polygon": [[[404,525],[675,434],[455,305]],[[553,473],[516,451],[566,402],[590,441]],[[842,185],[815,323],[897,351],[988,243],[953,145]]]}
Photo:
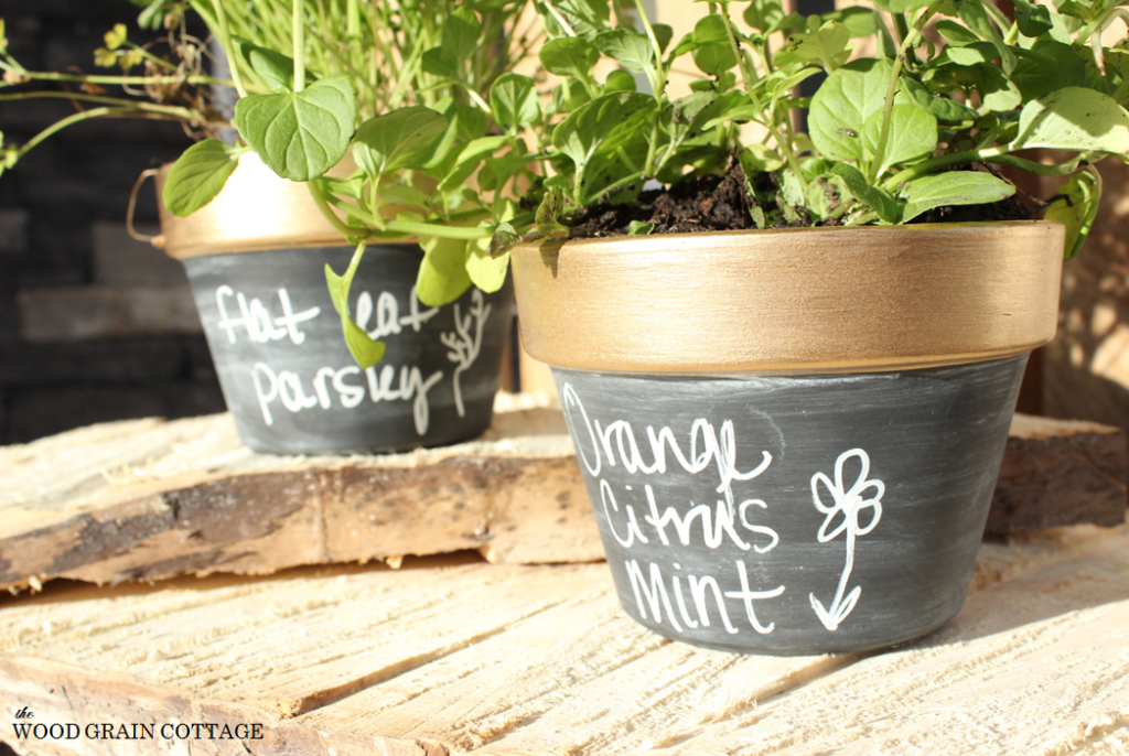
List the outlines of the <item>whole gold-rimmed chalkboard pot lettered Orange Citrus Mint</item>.
{"label": "whole gold-rimmed chalkboard pot lettered Orange Citrus Mint", "polygon": [[1047,222],[515,250],[624,610],[778,654],[952,618],[1061,253]]}

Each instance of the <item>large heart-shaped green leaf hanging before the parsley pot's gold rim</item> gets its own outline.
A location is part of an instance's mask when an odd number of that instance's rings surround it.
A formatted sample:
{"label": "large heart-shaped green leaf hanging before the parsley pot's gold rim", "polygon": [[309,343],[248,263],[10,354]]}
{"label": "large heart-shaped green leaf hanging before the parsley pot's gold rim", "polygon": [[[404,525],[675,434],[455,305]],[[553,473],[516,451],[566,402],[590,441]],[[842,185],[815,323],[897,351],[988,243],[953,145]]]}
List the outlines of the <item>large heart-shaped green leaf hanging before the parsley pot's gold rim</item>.
{"label": "large heart-shaped green leaf hanging before the parsley pot's gold rim", "polygon": [[274,173],[296,182],[321,176],[344,157],[356,121],[357,91],[344,74],[235,104],[239,135]]}

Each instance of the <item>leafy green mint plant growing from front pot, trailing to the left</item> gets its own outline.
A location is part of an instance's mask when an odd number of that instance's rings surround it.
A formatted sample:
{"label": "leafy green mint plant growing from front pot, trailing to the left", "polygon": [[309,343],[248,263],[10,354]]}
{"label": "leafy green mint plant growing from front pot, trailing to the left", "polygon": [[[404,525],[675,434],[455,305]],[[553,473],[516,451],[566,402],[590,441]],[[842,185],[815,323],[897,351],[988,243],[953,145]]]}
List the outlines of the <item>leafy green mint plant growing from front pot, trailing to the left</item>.
{"label": "leafy green mint plant growing from front pot, trailing to the left", "polygon": [[[637,21],[616,3],[539,0],[537,56],[558,86],[539,93],[525,77],[500,78],[487,112],[496,135],[422,109],[380,116],[358,132],[355,150],[399,157],[361,160],[362,176],[318,186],[367,238],[419,236],[428,304],[472,282],[497,288],[509,247],[583,234],[577,221],[594,205],[633,203],[647,182],[669,187],[734,164],[761,228],[905,223],[938,208],[995,203],[1016,190],[994,166],[1069,176],[1045,217],[1066,223],[1073,256],[1097,208],[1094,161],[1129,151],[1129,46],[1100,39],[1126,10],[1112,0],[1018,0],[1012,20],[990,0],[876,6],[802,17],[779,0],[716,0],[675,41],[638,0],[627,8]],[[866,37],[877,56],[852,58]],[[601,81],[595,70],[607,59],[616,70]],[[690,65],[700,78],[672,99],[672,70]],[[819,73],[826,79],[815,96],[796,97]],[[637,91],[632,74],[650,91]],[[808,133],[794,125],[797,108],[807,108]],[[743,139],[747,123],[764,138]],[[447,152],[452,143],[463,147]],[[1023,153],[1034,148],[1068,157],[1044,165]],[[387,165],[413,178],[390,182]],[[473,188],[449,191],[472,175]],[[401,210],[384,220],[388,205]],[[642,220],[629,227],[653,230]],[[338,285],[348,289],[348,274]]]}

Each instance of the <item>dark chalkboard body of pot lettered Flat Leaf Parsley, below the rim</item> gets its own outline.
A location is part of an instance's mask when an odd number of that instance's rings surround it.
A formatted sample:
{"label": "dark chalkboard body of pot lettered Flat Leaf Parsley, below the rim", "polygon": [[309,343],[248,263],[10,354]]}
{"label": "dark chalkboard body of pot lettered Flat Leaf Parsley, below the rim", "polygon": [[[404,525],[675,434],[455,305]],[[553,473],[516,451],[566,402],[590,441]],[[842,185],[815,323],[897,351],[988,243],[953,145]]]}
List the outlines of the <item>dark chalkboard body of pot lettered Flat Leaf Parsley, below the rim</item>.
{"label": "dark chalkboard body of pot lettered Flat Leaf Parsley, below the rim", "polygon": [[415,298],[422,254],[375,245],[353,279],[353,319],[387,348],[357,367],[325,284],[352,247],[272,249],[184,261],[239,437],[256,451],[402,450],[490,425],[513,291],[471,289],[430,308]]}

